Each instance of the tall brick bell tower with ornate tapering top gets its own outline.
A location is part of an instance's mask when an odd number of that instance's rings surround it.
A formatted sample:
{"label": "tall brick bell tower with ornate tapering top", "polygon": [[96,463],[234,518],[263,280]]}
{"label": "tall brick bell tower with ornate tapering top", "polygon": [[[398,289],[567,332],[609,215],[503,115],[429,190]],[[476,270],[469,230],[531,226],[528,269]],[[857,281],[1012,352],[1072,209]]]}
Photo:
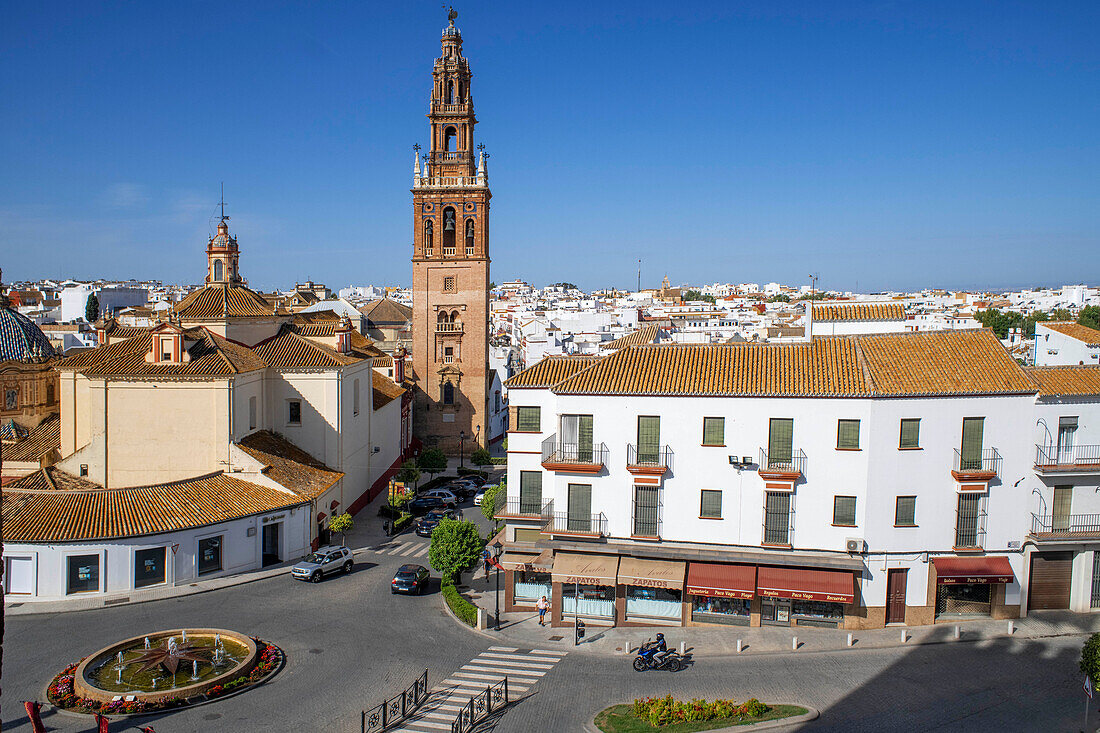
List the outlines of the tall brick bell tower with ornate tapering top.
{"label": "tall brick bell tower with ornate tapering top", "polygon": [[413,167],[414,431],[426,448],[466,456],[484,445],[488,393],[488,174],[474,160],[473,96],[451,10],[432,68],[431,145]]}

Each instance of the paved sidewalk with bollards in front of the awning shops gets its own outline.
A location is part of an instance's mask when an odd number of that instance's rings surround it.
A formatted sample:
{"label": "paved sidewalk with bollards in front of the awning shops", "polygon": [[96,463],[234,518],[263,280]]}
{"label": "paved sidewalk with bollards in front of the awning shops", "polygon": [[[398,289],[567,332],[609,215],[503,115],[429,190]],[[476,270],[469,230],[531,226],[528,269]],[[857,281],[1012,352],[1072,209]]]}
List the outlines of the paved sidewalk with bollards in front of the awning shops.
{"label": "paved sidewalk with bollards in front of the awning shops", "polygon": [[[502,577],[502,582],[504,578]],[[481,632],[493,638],[516,645],[542,645],[546,648],[568,648],[581,654],[628,654],[662,632],[669,646],[679,647],[683,643],[695,656],[737,654],[737,643],[741,642],[741,654],[806,654],[813,652],[836,652],[848,648],[848,634],[853,636],[853,649],[889,648],[922,644],[945,644],[957,642],[987,642],[1008,638],[1009,622],[993,620],[968,620],[957,623],[942,623],[933,626],[890,626],[867,631],[843,628],[777,627],[777,626],[651,626],[647,628],[619,628],[587,624],[585,638],[573,646],[573,627],[540,627],[538,614],[534,611],[502,613],[501,631],[492,628],[495,611],[495,578],[485,583],[483,571],[468,581],[469,590],[463,594],[485,609],[491,620],[488,631]],[[501,589],[504,602],[504,588]],[[955,627],[960,636],[955,639]],[[1012,622],[1012,638],[1044,638],[1050,636],[1085,635],[1100,631],[1100,614],[1070,613],[1068,611],[1044,611],[1032,613],[1026,619]],[[902,637],[904,635],[904,641]],[[795,637],[798,642],[795,642]],[[794,648],[794,644],[798,647]]]}

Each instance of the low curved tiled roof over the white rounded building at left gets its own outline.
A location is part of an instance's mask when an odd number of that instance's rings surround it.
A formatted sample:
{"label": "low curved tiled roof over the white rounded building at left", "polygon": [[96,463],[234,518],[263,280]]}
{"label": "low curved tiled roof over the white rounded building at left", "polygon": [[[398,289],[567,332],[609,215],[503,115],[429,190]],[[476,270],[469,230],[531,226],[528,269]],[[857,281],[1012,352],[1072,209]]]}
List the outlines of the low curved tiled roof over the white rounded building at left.
{"label": "low curved tiled roof over the white rounded building at left", "polygon": [[2,513],[6,541],[51,543],[174,532],[304,503],[224,473],[106,490],[51,468],[4,486]]}

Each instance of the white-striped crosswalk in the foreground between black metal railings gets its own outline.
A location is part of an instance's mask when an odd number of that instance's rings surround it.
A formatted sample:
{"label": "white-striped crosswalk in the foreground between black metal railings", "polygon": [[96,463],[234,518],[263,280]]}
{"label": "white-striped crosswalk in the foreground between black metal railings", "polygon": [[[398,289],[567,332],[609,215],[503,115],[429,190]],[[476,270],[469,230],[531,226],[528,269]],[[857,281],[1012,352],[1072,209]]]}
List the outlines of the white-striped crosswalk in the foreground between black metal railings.
{"label": "white-striped crosswalk in the foreground between black metal railings", "polygon": [[561,661],[565,652],[491,646],[451,674],[428,693],[424,704],[395,731],[436,733],[451,723],[471,698],[507,676],[508,697],[526,694]]}

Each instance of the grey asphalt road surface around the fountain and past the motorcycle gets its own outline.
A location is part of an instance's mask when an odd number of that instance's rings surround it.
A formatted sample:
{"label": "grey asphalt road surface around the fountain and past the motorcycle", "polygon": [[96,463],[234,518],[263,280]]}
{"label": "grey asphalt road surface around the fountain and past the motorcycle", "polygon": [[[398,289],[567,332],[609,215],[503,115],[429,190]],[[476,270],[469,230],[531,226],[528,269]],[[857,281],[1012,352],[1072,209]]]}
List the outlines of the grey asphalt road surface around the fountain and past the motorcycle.
{"label": "grey asphalt road surface around the fountain and past the motorcycle", "polygon": [[[427,540],[406,534],[397,541]],[[118,638],[218,626],[278,644],[287,654],[285,669],[244,694],[139,719],[142,724],[157,733],[358,731],[360,710],[398,692],[418,672],[428,669],[435,685],[494,644],[448,615],[438,580],[419,598],[388,592],[397,566],[428,565],[417,549],[405,556],[372,554],[351,576],[319,584],[283,576],[136,605],[9,617],[2,729],[30,732],[20,701],[42,700],[62,667]],[[822,711],[805,726],[813,731],[1078,731],[1085,711],[1077,671],[1081,639],[704,657],[675,675],[635,672],[626,656],[571,653],[493,730],[579,731],[606,705],[671,692],[811,704]],[[1098,705],[1100,698],[1096,723]],[[54,713],[45,720],[51,730],[92,730],[87,718]],[[111,730],[136,730],[136,722],[118,722]]]}

